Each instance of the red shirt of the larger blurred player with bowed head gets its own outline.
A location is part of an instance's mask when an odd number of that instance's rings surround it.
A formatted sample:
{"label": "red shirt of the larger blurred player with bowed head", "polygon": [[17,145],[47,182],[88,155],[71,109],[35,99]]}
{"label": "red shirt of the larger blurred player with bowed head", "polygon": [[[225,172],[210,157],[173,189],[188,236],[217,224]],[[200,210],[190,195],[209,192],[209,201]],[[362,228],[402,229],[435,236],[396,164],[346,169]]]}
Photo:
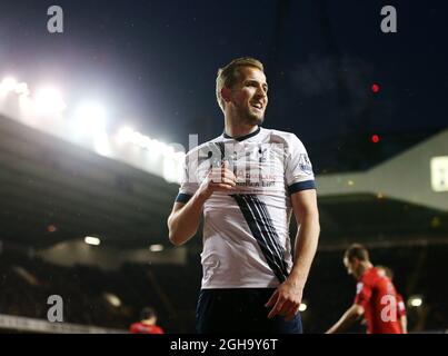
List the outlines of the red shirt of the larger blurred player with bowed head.
{"label": "red shirt of the larger blurred player with bowed head", "polygon": [[398,320],[397,291],[389,278],[372,267],[364,273],[356,286],[355,304],[365,309],[367,333],[401,334]]}

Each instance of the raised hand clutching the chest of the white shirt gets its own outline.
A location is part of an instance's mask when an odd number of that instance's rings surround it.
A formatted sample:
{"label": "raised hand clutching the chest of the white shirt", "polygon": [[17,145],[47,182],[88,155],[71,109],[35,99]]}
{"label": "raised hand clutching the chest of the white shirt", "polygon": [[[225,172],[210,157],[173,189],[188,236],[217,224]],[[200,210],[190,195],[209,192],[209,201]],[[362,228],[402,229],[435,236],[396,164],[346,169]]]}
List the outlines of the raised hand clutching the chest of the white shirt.
{"label": "raised hand clutching the chest of the white shirt", "polygon": [[237,177],[229,169],[229,162],[221,167],[211,168],[206,179],[199,186],[200,194],[209,198],[215,191],[233,192],[237,186]]}

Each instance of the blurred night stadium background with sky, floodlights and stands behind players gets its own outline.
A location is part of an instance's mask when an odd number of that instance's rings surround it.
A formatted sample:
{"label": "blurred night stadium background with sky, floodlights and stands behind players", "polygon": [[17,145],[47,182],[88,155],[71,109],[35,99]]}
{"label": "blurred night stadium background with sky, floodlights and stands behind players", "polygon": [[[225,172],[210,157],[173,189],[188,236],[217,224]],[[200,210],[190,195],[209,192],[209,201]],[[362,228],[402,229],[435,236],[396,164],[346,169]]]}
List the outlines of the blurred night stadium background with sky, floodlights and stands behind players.
{"label": "blurred night stadium background with sky, floodlights and stands behind players", "polygon": [[243,56],[265,63],[263,126],[317,176],[305,332],[351,305],[351,243],[394,270],[409,332],[447,332],[445,2],[61,0],[56,33],[52,4],[0,4],[0,332],[126,333],[145,306],[195,332],[201,234],[173,248],[166,221],[191,141],[222,132],[216,72]]}

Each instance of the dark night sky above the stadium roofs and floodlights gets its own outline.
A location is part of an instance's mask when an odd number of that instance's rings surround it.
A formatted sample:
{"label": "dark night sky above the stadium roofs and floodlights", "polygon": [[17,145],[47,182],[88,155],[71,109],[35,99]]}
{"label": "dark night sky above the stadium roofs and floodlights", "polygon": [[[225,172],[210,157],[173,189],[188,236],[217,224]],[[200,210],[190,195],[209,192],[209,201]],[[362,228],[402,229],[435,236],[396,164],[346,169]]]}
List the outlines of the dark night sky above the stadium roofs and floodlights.
{"label": "dark night sky above the stadium roofs and floodlights", "polygon": [[[62,34],[47,31],[51,4],[64,11]],[[386,4],[397,8],[398,33],[380,31]],[[52,82],[69,110],[97,99],[111,127],[131,122],[187,145],[188,134],[222,131],[218,67],[253,56],[270,85],[265,126],[305,142],[366,126],[444,128],[447,10],[434,0],[2,1],[0,76],[31,89]]]}

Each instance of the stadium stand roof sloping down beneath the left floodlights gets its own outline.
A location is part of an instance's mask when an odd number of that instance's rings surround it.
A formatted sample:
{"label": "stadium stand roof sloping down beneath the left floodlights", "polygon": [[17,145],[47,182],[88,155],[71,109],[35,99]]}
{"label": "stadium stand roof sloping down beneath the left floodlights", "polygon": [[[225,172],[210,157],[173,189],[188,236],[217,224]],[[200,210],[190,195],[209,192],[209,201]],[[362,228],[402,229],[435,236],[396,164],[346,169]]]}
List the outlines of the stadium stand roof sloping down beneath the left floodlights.
{"label": "stadium stand roof sloping down beneath the left floodlights", "polygon": [[100,236],[148,246],[167,236],[178,186],[0,117],[0,239],[43,247]]}

